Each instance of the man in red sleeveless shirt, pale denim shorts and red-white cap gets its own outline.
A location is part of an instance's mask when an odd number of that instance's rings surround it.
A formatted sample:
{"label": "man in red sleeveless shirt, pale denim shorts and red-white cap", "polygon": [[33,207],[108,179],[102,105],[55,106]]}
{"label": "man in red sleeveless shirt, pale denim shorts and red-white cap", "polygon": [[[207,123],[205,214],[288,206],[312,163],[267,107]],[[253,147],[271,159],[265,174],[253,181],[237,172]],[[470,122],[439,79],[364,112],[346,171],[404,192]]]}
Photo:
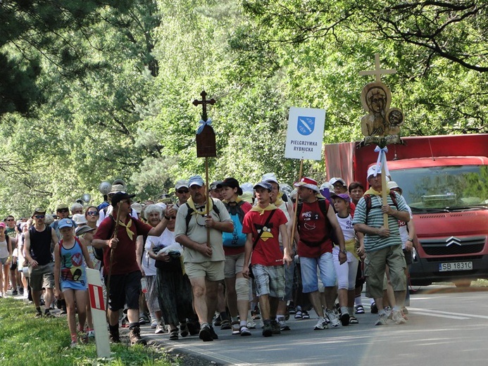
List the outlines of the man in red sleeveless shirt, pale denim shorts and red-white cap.
{"label": "man in red sleeveless shirt, pale denim shorts and red-white cap", "polygon": [[301,198],[301,209],[297,211],[297,230],[295,232],[298,243],[297,251],[300,258],[301,282],[304,294],[308,293],[313,310],[318,315],[318,322],[314,329],[326,329],[324,311],[320,303],[320,293],[318,291],[317,267],[320,270],[320,279],[325,288],[325,310],[329,317],[332,327],[338,327],[339,317],[335,313],[334,301],[337,291],[335,289],[336,273],[334,261],[332,260],[332,240],[330,239],[330,228],[337,236],[339,245],[339,262],[346,262],[346,247],[344,244],[344,234],[337,222],[334,210],[327,200],[327,217],[324,216],[318,202],[320,190],[315,180],[303,177],[300,182],[294,184],[298,187],[298,194]]}

